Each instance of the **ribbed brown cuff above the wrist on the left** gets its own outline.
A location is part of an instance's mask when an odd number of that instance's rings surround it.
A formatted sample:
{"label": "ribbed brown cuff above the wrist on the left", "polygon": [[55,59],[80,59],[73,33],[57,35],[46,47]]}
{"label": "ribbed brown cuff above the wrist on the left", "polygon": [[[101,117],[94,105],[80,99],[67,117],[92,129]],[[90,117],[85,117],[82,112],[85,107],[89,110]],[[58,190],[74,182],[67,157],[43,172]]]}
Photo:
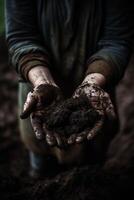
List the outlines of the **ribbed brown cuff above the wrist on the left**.
{"label": "ribbed brown cuff above the wrist on the left", "polygon": [[49,61],[47,56],[42,54],[27,54],[23,56],[19,61],[19,69],[20,69],[20,75],[24,80],[28,81],[28,72],[37,66],[44,66],[49,67]]}

